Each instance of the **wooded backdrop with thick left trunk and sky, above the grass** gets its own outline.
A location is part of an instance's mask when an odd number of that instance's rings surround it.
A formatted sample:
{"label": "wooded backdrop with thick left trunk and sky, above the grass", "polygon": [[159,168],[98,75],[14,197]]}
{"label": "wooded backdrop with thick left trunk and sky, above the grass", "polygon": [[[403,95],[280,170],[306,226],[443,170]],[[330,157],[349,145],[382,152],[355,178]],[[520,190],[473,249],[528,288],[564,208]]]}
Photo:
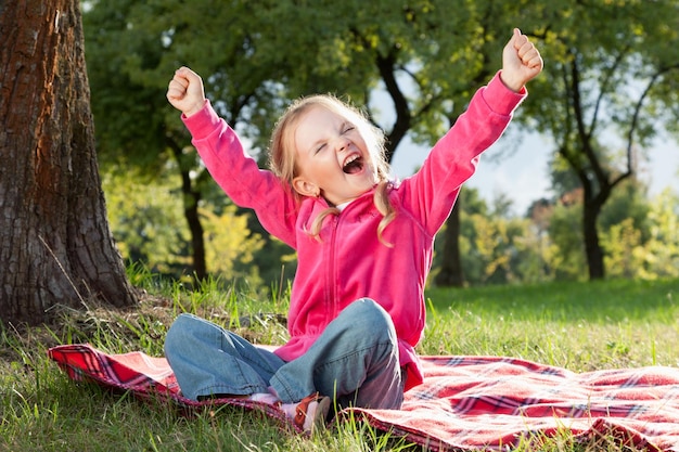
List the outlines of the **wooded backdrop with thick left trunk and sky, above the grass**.
{"label": "wooded backdrop with thick left trunk and sky, above the grass", "polygon": [[[545,70],[461,191],[436,237],[428,285],[677,277],[679,195],[662,180],[677,173],[678,8],[623,0],[5,4],[4,320],[39,323],[50,307],[76,307],[82,294],[133,305],[125,268],[189,288],[210,280],[265,296],[293,277],[293,250],[214,183],[167,103],[179,66],[202,75],[215,108],[261,167],[284,108],[330,92],[384,130],[386,158],[405,178],[501,67],[514,27],[539,47]],[[22,183],[14,175],[24,175]]]}

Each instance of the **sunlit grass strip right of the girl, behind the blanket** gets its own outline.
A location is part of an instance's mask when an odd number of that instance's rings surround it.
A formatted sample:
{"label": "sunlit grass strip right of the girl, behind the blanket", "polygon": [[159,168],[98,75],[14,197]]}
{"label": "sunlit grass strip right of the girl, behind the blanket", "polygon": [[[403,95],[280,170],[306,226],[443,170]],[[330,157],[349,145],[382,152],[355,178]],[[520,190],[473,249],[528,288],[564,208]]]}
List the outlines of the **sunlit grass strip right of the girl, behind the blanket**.
{"label": "sunlit grass strip right of the girl, behind the blanket", "polygon": [[679,365],[679,282],[432,289],[427,354],[510,356],[586,372]]}

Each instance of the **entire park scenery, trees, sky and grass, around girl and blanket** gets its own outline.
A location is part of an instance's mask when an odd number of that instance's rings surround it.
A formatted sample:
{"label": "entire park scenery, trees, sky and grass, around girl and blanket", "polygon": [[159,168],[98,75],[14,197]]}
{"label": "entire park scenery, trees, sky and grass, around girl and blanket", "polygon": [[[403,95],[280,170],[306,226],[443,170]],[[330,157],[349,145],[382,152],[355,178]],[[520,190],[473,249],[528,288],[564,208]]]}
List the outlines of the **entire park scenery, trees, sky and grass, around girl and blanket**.
{"label": "entire park scenery, trees, sky and grass, around girl and blanket", "polygon": [[[165,100],[181,64],[204,76],[254,152],[292,99],[331,91],[366,106],[389,135],[389,155],[417,154],[414,168],[521,27],[546,70],[439,234],[418,352],[573,372],[677,366],[679,196],[676,182],[664,190],[644,168],[659,165],[676,181],[678,9],[0,3],[0,449],[419,450],[355,422],[306,440],[241,410],[185,417],[74,384],[49,361],[49,347],[75,343],[162,356],[180,312],[254,343],[286,340],[294,254],[203,170]],[[545,451],[637,450],[614,432],[587,443],[565,430],[535,439]]]}

